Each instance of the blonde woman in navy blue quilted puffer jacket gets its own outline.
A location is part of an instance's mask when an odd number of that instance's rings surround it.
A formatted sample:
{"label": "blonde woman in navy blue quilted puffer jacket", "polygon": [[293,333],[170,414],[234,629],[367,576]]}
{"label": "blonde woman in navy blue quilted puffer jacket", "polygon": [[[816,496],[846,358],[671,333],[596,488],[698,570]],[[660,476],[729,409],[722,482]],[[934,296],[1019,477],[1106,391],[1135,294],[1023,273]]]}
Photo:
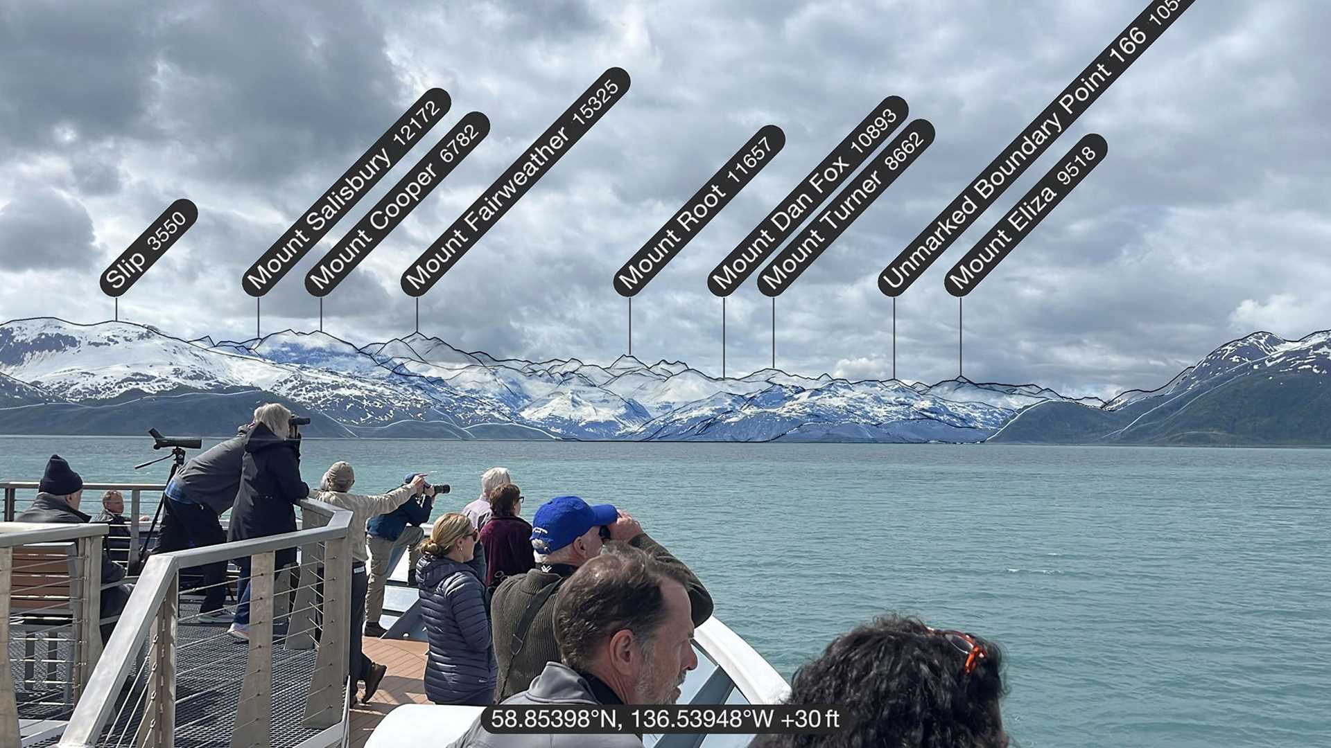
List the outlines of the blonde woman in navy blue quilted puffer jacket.
{"label": "blonde woman in navy blue quilted puffer jacket", "polygon": [[486,587],[467,566],[476,531],[466,516],[441,516],[422,546],[417,586],[430,656],[425,692],[435,704],[492,703],[496,665],[486,615]]}

